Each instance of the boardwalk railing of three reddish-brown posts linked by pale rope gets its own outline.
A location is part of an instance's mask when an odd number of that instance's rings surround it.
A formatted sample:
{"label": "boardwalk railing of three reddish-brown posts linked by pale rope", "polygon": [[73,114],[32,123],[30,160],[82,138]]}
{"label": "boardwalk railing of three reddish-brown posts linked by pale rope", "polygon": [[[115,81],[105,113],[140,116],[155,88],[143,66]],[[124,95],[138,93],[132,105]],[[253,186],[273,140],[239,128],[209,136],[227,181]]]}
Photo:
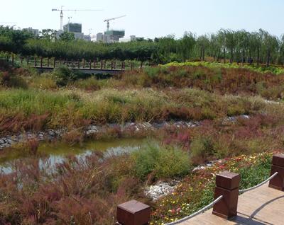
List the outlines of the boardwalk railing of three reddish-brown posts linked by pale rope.
{"label": "boardwalk railing of three reddish-brown posts linked by pale rope", "polygon": [[[269,182],[269,187],[277,190],[284,190],[284,155],[275,154],[272,160],[271,177],[253,188],[239,190],[241,176],[237,173],[224,171],[216,176],[216,187],[214,201],[198,212],[191,214],[178,221],[173,221],[165,225],[180,224],[182,221],[196,217],[207,209],[213,207],[212,214],[224,219],[231,219],[237,215],[239,195],[250,190],[261,187]],[[149,224],[151,217],[151,207],[131,200],[119,204],[116,210],[116,224],[118,225],[145,225]]]}

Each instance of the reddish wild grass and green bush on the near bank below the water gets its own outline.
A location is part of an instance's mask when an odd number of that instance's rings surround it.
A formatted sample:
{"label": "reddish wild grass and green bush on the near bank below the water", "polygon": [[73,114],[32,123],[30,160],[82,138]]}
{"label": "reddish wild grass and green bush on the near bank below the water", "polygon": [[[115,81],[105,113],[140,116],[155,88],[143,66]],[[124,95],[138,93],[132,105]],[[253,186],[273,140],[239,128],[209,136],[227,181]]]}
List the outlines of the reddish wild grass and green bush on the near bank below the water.
{"label": "reddish wild grass and green bush on the near bank below the water", "polygon": [[[186,152],[152,144],[143,148],[104,159],[99,151],[86,159],[70,157],[54,168],[50,168],[48,161],[39,167],[36,156],[17,161],[14,173],[0,173],[1,222],[113,224],[116,204],[138,197],[142,180],[153,172],[140,168],[141,179],[136,177],[138,161],[146,156],[146,151],[158,151],[160,163],[153,168],[157,178],[189,173]],[[170,170],[168,166],[175,163],[183,166]]]}

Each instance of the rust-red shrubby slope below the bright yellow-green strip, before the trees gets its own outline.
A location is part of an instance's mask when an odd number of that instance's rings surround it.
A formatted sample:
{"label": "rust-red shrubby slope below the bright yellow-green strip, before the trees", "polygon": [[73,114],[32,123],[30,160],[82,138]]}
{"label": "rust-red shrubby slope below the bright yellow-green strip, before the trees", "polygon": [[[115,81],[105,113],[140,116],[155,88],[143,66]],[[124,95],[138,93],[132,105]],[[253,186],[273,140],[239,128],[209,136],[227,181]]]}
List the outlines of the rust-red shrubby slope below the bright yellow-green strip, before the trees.
{"label": "rust-red shrubby slope below the bright yellow-green strip, before the trees", "polygon": [[136,88],[195,87],[221,94],[258,95],[269,100],[282,99],[284,96],[282,70],[282,74],[275,75],[271,70],[263,73],[250,68],[224,68],[216,65],[185,63],[148,67],[143,71],[122,74],[113,83],[114,86],[126,86],[126,83],[130,83]]}

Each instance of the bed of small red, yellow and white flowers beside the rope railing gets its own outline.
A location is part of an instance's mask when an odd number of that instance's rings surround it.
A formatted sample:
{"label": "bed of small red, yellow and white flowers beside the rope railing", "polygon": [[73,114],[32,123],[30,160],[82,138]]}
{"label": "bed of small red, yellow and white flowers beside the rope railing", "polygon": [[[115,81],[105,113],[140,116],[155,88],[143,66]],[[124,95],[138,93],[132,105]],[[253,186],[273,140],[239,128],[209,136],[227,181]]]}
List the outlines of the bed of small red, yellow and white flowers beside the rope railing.
{"label": "bed of small red, yellow and white flowers beside the rope railing", "polygon": [[215,177],[222,171],[241,175],[240,189],[258,185],[270,176],[272,153],[227,158],[192,173],[174,192],[156,202],[150,224],[166,224],[197,212],[214,200]]}

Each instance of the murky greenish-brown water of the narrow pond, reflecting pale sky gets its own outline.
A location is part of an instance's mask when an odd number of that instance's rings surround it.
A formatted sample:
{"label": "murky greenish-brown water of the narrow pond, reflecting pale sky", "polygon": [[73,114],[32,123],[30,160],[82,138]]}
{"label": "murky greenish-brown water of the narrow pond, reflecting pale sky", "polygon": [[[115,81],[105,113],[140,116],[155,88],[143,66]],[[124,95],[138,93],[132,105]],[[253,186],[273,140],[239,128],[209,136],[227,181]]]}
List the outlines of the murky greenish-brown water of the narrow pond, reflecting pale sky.
{"label": "murky greenish-brown water of the narrow pond, reflecting pale sky", "polygon": [[[41,143],[38,148],[40,163],[48,161],[50,166],[55,163],[64,161],[67,156],[75,155],[77,157],[86,157],[94,151],[102,151],[104,157],[137,151],[141,145],[146,144],[146,139],[113,139],[105,141],[92,141],[69,146],[67,144],[48,144]],[[13,163],[28,158],[29,155],[21,150],[5,150],[0,153],[0,171],[3,173],[11,173],[13,171]]]}

